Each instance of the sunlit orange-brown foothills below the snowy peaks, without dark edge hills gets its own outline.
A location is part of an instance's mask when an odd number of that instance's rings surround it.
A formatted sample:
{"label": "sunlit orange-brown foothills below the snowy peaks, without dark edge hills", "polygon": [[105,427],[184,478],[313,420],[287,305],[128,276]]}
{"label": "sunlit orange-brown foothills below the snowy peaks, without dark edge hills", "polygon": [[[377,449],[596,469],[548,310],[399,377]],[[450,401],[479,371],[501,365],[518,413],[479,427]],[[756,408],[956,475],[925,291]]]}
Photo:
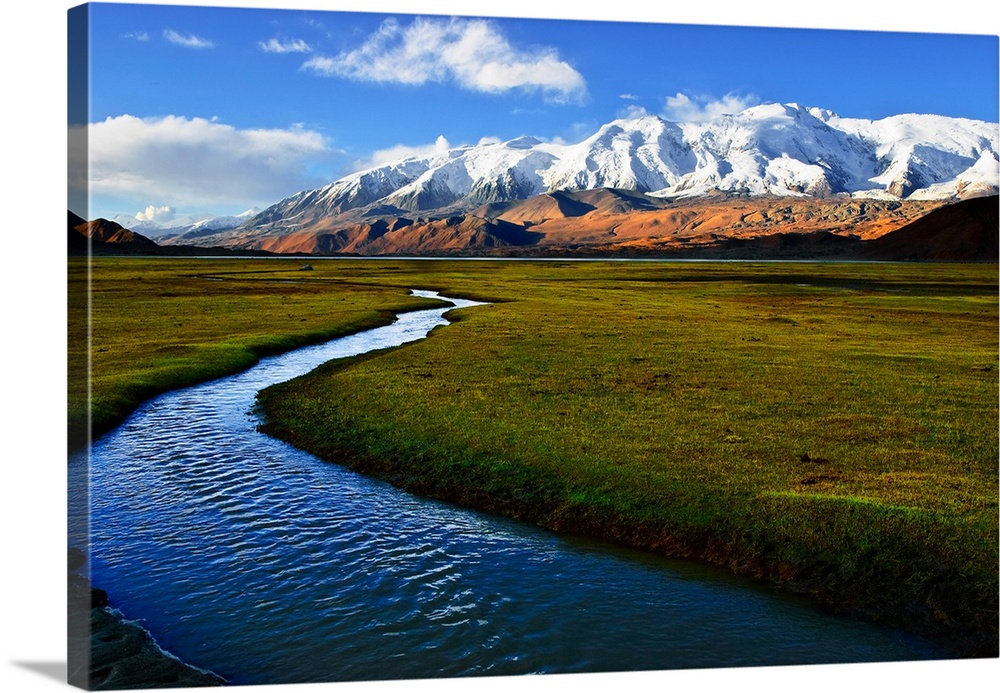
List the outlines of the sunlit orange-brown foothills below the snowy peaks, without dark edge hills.
{"label": "sunlit orange-brown foothills below the snowy peaks, without dark edge hills", "polygon": [[942,204],[723,195],[668,202],[634,191],[597,189],[490,203],[468,214],[346,222],[327,218],[284,233],[242,230],[200,240],[231,248],[320,255],[663,251],[779,232],[875,238]]}

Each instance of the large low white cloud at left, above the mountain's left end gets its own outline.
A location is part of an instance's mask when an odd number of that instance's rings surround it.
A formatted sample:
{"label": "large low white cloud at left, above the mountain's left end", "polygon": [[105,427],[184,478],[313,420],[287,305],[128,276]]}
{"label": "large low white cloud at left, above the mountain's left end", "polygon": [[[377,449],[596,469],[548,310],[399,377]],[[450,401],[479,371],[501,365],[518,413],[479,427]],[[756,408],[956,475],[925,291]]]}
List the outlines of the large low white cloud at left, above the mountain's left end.
{"label": "large low white cloud at left, above the mountain's left end", "polygon": [[78,160],[70,170],[87,174],[76,185],[89,185],[94,195],[173,206],[272,204],[326,182],[310,166],[334,154],[323,136],[301,126],[237,129],[183,116],[116,116],[92,123],[87,135],[89,146],[72,152]]}

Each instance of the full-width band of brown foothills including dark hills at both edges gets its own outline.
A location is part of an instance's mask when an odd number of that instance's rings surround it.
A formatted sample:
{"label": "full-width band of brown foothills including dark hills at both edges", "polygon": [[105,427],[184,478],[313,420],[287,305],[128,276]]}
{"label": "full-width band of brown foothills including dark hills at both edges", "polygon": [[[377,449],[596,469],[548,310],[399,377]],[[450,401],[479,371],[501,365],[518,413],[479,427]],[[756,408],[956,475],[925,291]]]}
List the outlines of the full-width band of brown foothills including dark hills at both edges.
{"label": "full-width band of brown foothills including dark hills at both edges", "polygon": [[[95,254],[664,256],[997,261],[998,198],[951,203],[556,192],[469,215],[395,218],[252,240],[240,249],[91,241]],[[77,221],[75,225],[73,221]],[[87,252],[70,213],[70,254]],[[123,236],[119,236],[123,237]],[[74,244],[73,241],[77,243]]]}

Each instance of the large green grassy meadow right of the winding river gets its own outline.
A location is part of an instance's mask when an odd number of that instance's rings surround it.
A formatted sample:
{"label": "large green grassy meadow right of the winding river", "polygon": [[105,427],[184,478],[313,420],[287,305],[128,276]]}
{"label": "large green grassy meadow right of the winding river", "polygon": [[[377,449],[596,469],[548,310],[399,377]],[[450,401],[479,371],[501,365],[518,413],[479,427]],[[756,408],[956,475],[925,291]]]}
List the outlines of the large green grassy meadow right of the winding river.
{"label": "large green grassy meadow right of the winding river", "polygon": [[996,655],[996,265],[313,264],[495,302],[268,389],[269,433]]}

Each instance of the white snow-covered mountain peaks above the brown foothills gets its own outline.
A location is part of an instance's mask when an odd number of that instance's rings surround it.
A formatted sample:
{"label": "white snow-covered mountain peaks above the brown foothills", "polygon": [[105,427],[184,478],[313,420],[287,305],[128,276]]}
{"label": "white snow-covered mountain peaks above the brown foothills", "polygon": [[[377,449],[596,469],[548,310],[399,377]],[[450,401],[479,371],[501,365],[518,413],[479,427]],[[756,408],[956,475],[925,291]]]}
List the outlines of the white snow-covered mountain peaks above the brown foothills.
{"label": "white snow-covered mountain peaks above the brown foothills", "polygon": [[521,137],[360,171],[278,202],[242,226],[292,232],[322,219],[468,212],[555,190],[661,198],[743,195],[956,199],[998,190],[998,126],[936,115],[841,118],[766,104],[703,123],[615,120],[577,144]]}

